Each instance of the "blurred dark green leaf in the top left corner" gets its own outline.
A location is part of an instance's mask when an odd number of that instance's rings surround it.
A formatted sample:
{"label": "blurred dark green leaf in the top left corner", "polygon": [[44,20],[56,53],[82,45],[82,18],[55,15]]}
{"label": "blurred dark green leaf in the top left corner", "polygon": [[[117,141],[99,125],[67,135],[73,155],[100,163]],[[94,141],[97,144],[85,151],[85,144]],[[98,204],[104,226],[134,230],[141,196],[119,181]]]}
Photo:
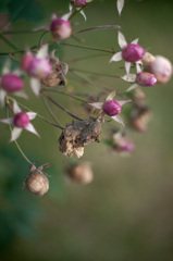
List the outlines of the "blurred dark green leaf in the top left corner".
{"label": "blurred dark green leaf in the top left corner", "polygon": [[25,20],[37,23],[42,20],[42,10],[34,0],[10,0],[8,3],[10,21]]}

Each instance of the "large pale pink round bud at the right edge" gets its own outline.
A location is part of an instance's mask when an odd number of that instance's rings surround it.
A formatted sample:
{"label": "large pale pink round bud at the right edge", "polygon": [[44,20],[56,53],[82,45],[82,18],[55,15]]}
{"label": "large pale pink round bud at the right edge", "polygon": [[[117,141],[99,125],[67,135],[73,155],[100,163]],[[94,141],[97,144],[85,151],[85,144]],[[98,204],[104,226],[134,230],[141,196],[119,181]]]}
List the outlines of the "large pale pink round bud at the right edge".
{"label": "large pale pink round bud at the right edge", "polygon": [[161,55],[157,55],[155,62],[147,70],[155,75],[160,84],[166,84],[172,76],[171,62]]}

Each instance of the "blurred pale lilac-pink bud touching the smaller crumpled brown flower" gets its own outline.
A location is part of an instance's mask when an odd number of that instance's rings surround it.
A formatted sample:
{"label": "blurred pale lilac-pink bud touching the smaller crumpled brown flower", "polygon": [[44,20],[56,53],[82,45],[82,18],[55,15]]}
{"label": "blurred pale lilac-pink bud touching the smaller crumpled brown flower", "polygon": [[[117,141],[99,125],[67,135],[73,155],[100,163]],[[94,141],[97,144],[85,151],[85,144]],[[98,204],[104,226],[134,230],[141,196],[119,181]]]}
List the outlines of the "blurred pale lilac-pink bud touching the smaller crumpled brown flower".
{"label": "blurred pale lilac-pink bud touching the smaller crumpled brown flower", "polygon": [[35,58],[28,69],[28,73],[36,78],[46,78],[51,72],[51,63],[44,58]]}

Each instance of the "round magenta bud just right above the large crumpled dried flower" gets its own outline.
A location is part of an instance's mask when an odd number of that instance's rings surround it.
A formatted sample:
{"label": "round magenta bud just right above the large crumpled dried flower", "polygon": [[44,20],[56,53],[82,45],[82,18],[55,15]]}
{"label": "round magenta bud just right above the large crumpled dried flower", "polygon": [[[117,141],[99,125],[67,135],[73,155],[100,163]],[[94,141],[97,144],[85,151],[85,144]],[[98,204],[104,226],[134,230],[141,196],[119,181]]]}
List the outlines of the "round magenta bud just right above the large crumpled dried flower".
{"label": "round magenta bud just right above the large crumpled dried flower", "polygon": [[122,110],[121,104],[115,100],[107,101],[103,104],[102,109],[103,109],[104,113],[108,114],[109,116],[115,116]]}

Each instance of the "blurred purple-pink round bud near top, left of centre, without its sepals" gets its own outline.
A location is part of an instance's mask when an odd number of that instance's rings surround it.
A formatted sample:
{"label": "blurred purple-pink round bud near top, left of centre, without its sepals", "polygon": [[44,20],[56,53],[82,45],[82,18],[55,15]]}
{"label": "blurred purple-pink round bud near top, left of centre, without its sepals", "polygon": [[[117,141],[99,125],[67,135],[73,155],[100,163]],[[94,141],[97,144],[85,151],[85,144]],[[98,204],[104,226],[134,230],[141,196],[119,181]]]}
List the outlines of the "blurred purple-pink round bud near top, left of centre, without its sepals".
{"label": "blurred purple-pink round bud near top, left of centre, without its sepals", "polygon": [[58,39],[66,39],[72,34],[70,22],[62,18],[53,18],[50,25],[50,30]]}

